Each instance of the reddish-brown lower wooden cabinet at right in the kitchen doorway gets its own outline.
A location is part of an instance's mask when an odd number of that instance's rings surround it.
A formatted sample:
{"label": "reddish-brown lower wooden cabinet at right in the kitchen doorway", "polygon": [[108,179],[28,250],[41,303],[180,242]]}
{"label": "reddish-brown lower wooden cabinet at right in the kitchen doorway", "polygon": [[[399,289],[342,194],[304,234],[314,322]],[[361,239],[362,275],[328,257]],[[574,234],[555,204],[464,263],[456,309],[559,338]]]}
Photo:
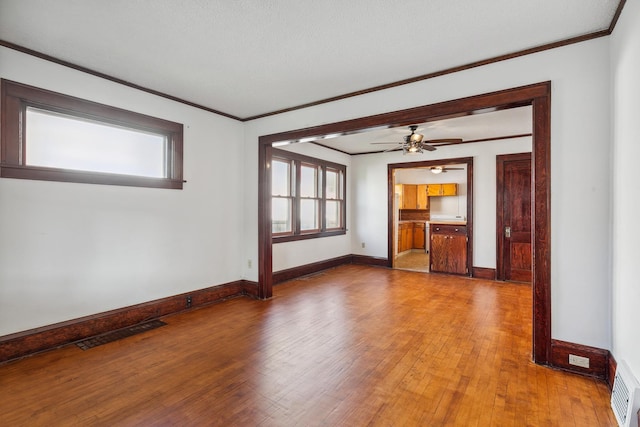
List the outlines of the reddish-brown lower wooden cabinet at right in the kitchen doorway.
{"label": "reddish-brown lower wooden cabinet at right in the kitchen doorway", "polygon": [[432,223],[430,270],[436,273],[469,274],[467,227]]}

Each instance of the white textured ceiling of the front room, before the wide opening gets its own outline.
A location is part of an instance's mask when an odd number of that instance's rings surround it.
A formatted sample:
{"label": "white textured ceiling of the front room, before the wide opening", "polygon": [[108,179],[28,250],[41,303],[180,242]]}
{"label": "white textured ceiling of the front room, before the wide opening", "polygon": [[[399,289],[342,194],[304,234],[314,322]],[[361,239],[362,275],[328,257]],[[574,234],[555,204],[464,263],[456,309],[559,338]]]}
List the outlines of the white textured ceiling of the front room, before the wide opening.
{"label": "white textured ceiling of the front room, before the wide opening", "polygon": [[0,0],[0,39],[239,118],[607,30],[619,0]]}

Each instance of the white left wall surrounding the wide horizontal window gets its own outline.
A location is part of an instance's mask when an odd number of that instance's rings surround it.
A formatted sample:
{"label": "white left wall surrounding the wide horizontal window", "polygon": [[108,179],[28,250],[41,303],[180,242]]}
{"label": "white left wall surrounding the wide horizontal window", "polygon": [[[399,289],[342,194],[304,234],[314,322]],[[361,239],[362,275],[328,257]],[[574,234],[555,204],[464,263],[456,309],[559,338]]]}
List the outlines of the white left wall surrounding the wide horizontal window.
{"label": "white left wall surrounding the wide horizontal window", "polygon": [[243,126],[0,47],[0,77],[184,124],[184,190],[0,179],[0,335],[240,279]]}

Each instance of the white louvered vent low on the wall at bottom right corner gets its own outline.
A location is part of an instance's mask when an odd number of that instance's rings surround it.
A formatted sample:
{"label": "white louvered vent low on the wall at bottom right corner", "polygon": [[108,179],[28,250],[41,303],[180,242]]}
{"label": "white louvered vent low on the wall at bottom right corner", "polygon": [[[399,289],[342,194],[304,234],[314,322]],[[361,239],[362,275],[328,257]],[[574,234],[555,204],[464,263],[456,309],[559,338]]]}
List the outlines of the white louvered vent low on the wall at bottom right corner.
{"label": "white louvered vent low on the wall at bottom right corner", "polygon": [[618,363],[611,392],[611,408],[620,427],[638,427],[640,385],[624,361]]}

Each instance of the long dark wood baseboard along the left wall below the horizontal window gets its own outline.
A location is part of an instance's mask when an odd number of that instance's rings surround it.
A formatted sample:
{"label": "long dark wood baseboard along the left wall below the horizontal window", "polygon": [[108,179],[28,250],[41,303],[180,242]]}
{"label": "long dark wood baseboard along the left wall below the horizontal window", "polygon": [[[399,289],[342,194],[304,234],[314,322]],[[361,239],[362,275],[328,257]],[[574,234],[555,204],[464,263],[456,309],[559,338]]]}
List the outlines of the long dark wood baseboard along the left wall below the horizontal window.
{"label": "long dark wood baseboard along the left wall below the horizontal window", "polygon": [[[151,319],[244,295],[255,296],[257,284],[244,280],[199,289],[129,307],[93,314],[0,337],[0,363],[50,350]],[[190,297],[190,303],[187,298]]]}

